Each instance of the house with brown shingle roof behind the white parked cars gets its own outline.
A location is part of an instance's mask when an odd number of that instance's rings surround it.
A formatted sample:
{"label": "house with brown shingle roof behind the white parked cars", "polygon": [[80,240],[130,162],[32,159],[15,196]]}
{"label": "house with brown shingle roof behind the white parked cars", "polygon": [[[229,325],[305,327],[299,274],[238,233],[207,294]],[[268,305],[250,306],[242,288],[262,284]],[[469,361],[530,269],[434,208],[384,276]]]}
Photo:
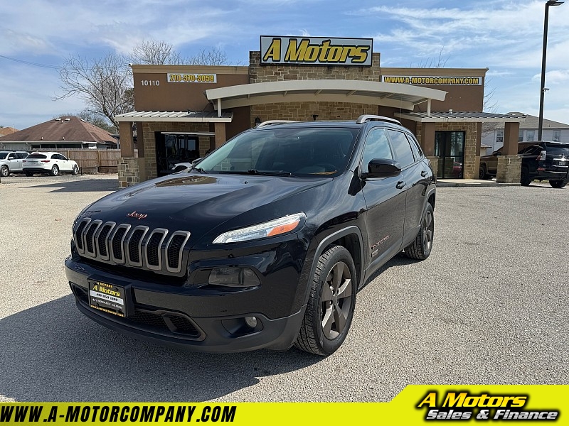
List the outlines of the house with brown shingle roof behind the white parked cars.
{"label": "house with brown shingle roof behind the white parked cars", "polygon": [[117,139],[100,127],[76,116],[62,116],[0,136],[0,148],[35,149],[117,148]]}

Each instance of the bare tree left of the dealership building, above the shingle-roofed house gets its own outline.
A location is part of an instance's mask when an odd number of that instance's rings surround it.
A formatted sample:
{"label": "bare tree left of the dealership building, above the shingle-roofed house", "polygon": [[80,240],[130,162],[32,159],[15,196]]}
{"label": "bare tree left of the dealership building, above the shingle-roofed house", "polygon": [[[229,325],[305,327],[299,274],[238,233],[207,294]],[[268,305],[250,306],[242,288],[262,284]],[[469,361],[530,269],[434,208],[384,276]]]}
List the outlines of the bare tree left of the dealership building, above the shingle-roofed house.
{"label": "bare tree left of the dealership building, above the shingle-roofed house", "polygon": [[55,100],[80,96],[87,109],[107,117],[118,128],[115,115],[134,108],[131,99],[125,96],[126,90],[132,87],[132,75],[126,62],[124,56],[117,53],[95,60],[70,56],[60,68],[63,94]]}

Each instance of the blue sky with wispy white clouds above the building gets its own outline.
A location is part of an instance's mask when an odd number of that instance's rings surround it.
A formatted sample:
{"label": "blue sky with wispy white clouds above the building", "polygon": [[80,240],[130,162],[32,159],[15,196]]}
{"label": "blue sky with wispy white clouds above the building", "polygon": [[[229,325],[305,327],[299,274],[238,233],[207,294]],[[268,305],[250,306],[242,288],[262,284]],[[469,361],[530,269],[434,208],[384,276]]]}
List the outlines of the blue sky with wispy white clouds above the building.
{"label": "blue sky with wispy white clouds above the building", "polygon": [[[61,93],[57,67],[69,55],[129,53],[154,39],[186,57],[220,48],[232,65],[247,65],[260,35],[373,38],[385,67],[418,66],[442,52],[446,67],[489,67],[486,89],[494,90],[496,112],[538,115],[545,3],[2,1],[0,125],[24,129],[84,108],[79,98],[52,100]],[[569,1],[550,8],[547,52],[544,116],[569,124]]]}

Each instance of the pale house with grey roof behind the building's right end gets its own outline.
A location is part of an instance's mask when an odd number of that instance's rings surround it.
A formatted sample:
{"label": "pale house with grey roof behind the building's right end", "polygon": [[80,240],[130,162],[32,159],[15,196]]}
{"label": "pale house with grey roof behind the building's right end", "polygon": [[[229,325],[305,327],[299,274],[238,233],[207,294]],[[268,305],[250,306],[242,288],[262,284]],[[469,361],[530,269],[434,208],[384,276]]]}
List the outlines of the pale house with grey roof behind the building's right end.
{"label": "pale house with grey roof behind the building's right end", "polygon": [[[523,114],[522,112],[509,112],[506,115],[526,117],[526,120],[520,123],[518,142],[537,141],[539,117]],[[543,141],[569,142],[569,124],[543,119],[541,139]],[[491,131],[484,133],[482,135],[482,144],[491,146],[491,148],[488,148],[488,154],[504,146],[504,124],[496,123]]]}

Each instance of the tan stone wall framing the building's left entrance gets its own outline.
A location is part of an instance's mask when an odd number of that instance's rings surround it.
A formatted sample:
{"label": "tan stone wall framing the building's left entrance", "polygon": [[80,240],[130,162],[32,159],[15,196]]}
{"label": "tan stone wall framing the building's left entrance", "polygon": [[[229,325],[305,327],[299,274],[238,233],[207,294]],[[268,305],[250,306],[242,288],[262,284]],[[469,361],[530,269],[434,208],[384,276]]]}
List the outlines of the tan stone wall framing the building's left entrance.
{"label": "tan stone wall framing the building's left entrance", "polygon": [[[210,129],[208,123],[143,123],[142,143],[144,143],[144,169],[146,170],[146,176],[142,180],[153,179],[158,176],[156,166],[156,131],[201,132],[210,131]],[[209,148],[210,138],[208,136],[199,136],[200,155],[204,155]]]}

